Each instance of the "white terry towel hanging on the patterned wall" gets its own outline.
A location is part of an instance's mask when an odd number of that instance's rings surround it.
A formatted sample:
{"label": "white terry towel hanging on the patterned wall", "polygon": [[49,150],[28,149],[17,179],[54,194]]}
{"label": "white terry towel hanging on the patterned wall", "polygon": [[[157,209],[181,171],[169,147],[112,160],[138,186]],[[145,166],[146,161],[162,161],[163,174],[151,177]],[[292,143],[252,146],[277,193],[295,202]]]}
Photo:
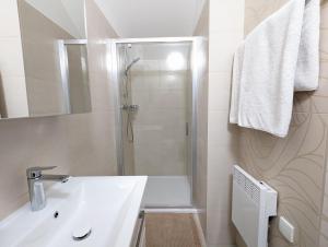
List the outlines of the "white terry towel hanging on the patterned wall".
{"label": "white terry towel hanging on the patterned wall", "polygon": [[285,137],[294,91],[318,87],[319,0],[290,0],[235,54],[230,122]]}

